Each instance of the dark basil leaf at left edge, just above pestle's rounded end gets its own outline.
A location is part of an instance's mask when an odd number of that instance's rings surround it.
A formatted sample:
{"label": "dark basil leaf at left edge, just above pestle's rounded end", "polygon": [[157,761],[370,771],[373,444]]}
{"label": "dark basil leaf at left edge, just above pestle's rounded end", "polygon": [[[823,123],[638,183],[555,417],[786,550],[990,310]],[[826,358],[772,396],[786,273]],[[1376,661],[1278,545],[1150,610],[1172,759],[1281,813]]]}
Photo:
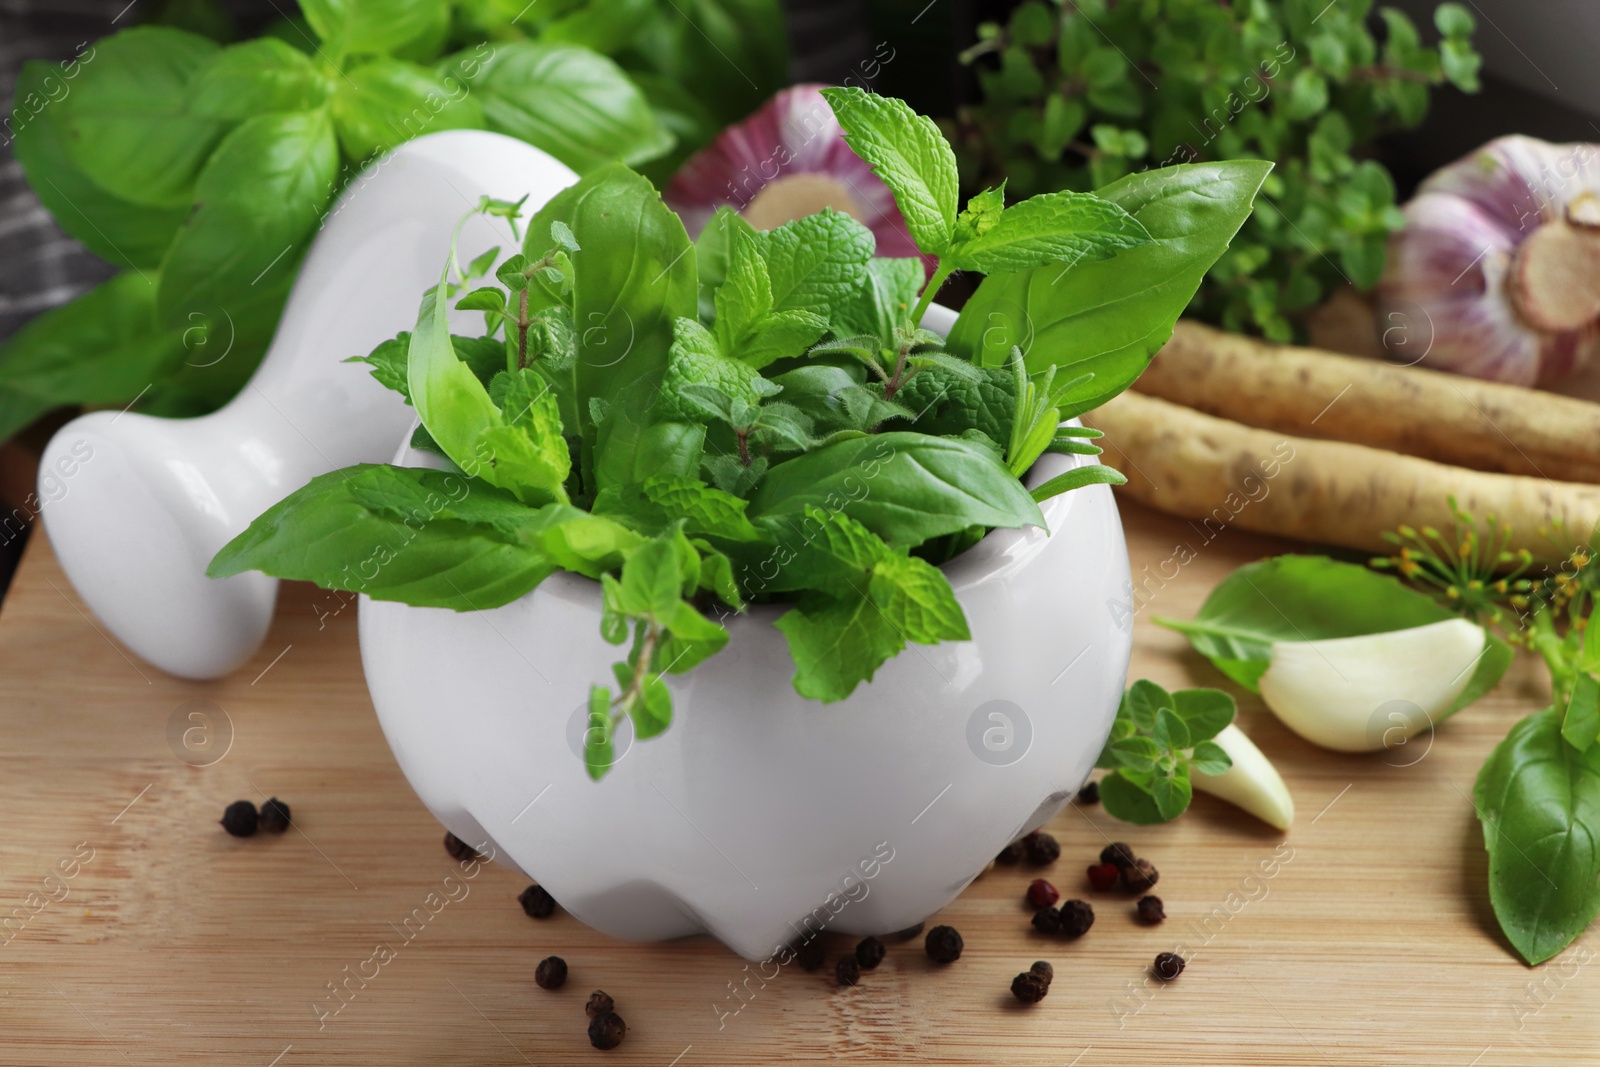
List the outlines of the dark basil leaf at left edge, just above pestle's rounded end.
{"label": "dark basil leaf at left edge, just above pestle's rounded end", "polygon": [[[128,270],[0,344],[0,390],[35,398],[34,416],[61,405],[123,405],[184,354],[184,330],[155,325],[155,282]],[[0,429],[10,435],[21,426]]]}

